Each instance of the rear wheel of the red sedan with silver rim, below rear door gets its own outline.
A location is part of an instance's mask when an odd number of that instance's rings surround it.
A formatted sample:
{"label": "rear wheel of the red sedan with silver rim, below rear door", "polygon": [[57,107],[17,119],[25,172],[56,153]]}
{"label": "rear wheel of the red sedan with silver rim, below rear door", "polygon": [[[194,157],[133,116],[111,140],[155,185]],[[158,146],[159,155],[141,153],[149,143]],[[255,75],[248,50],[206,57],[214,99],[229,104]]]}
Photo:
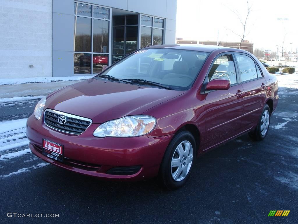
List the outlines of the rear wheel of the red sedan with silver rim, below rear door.
{"label": "rear wheel of the red sedan with silver rim, below rear door", "polygon": [[266,137],[270,125],[270,115],[270,108],[266,104],[263,108],[257,127],[254,129],[254,131],[249,132],[249,136],[252,139],[256,141],[262,141]]}

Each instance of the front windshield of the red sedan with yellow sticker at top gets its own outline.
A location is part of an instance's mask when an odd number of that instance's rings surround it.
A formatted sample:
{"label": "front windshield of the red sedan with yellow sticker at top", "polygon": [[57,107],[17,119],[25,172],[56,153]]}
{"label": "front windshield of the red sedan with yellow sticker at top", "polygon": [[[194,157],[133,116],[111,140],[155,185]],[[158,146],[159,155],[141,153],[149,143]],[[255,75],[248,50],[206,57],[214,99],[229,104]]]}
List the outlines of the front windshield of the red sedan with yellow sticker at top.
{"label": "front windshield of the red sedan with yellow sticker at top", "polygon": [[137,85],[150,85],[150,82],[154,82],[160,84],[155,85],[157,88],[164,85],[174,90],[188,90],[207,56],[206,52],[191,50],[142,49],[103,71],[97,78],[112,76],[130,80]]}

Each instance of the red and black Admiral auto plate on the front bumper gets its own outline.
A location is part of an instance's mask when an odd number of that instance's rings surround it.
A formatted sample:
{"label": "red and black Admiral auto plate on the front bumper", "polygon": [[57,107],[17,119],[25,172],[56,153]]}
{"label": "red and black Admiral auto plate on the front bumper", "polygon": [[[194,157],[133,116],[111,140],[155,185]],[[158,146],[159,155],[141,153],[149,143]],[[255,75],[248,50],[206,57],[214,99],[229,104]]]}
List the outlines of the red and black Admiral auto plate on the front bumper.
{"label": "red and black Admiral auto plate on the front bumper", "polygon": [[63,162],[63,145],[46,139],[42,139],[42,145],[42,154],[55,161]]}

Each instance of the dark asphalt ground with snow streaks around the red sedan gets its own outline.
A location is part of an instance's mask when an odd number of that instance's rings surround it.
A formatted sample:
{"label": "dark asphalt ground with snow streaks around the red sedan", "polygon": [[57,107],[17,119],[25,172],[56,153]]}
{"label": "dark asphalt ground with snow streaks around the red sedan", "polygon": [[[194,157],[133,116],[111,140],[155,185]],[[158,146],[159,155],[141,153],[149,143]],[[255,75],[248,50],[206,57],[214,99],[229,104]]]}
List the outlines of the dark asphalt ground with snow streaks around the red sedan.
{"label": "dark asphalt ground with snow streaks around the red sedan", "polygon": [[[155,180],[110,182],[75,174],[30,153],[0,159],[1,223],[296,224],[297,89],[282,87],[279,95],[265,140],[254,142],[246,134],[204,154],[176,191],[161,189]],[[1,104],[0,121],[28,117],[37,102]],[[24,128],[0,136],[0,144],[27,141],[19,138],[22,133]],[[0,149],[0,155],[27,148]],[[271,210],[290,213],[268,217]],[[13,212],[59,217],[7,217]]]}

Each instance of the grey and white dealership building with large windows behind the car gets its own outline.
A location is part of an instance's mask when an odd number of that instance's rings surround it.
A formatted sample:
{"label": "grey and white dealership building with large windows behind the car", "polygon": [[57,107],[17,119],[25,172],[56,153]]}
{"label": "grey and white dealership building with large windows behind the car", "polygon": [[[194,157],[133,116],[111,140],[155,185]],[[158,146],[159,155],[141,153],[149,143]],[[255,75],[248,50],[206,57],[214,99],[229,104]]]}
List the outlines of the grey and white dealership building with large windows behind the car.
{"label": "grey and white dealership building with large windows behind the car", "polygon": [[2,0],[0,78],[99,73],[176,41],[177,0]]}

